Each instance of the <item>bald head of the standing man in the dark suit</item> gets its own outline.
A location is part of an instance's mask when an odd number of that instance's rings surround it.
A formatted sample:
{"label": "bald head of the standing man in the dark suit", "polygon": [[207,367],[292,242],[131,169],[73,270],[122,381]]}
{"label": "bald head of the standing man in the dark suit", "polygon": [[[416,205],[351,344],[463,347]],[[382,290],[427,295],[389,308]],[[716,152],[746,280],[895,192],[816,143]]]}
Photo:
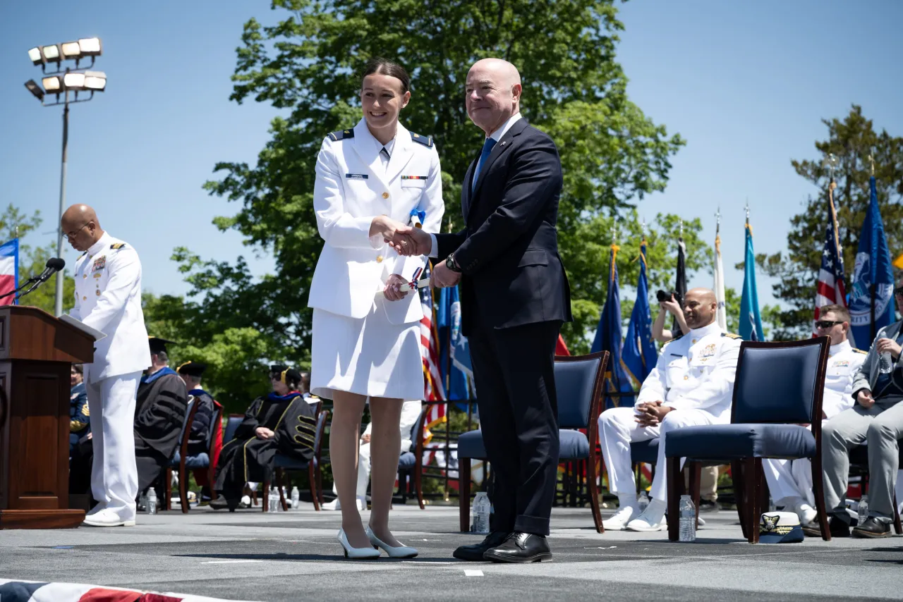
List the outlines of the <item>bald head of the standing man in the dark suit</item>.
{"label": "bald head of the standing man in the dark suit", "polygon": [[489,136],[520,111],[520,73],[507,60],[482,59],[467,73],[467,114]]}

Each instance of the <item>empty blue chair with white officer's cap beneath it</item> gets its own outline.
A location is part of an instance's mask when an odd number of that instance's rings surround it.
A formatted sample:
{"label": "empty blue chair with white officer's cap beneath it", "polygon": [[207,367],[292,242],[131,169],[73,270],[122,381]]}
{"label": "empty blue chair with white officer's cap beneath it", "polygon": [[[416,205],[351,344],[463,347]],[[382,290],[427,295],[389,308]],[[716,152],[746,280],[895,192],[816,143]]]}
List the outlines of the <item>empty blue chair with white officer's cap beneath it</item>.
{"label": "empty blue chair with white officer's cap beneath it", "polygon": [[[749,543],[759,542],[759,514],[768,490],[762,458],[810,458],[822,537],[831,539],[822,477],[822,396],[829,345],[827,337],[776,343],[743,341],[731,424],[685,427],[666,435],[668,539],[676,542],[680,533],[681,458],[695,469],[703,463],[731,462],[740,526]],[[811,424],[812,431],[801,424]],[[698,487],[698,481],[692,487]]]}

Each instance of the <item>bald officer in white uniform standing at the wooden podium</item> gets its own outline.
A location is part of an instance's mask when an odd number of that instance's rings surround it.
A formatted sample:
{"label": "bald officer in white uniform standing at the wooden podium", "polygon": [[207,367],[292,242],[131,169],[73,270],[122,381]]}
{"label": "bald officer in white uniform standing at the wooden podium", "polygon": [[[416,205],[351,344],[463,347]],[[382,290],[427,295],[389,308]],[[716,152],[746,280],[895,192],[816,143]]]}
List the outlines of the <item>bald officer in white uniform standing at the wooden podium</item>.
{"label": "bald officer in white uniform standing at the wooden podium", "polygon": [[75,307],[70,316],[107,335],[85,364],[94,464],[91,494],[98,501],[85,518],[96,527],[135,524],[135,392],[151,365],[141,310],[141,262],[135,249],[100,228],[87,205],[73,205],[61,219],[70,245],[83,251],[75,264]]}

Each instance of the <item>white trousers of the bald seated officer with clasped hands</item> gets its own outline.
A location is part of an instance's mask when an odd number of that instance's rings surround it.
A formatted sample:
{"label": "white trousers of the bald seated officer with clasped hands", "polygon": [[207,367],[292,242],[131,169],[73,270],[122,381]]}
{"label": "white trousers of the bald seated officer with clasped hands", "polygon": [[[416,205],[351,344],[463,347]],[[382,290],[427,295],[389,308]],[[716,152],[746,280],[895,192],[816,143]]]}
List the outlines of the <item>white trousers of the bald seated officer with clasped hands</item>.
{"label": "white trousers of the bald seated officer with clasped hands", "polygon": [[[715,418],[704,410],[672,410],[658,426],[641,427],[636,422],[634,408],[611,408],[599,417],[599,442],[605,468],[609,472],[609,489],[616,494],[637,491],[630,460],[630,442],[647,441],[657,437],[665,438],[668,431],[684,426],[715,424]],[[667,465],[665,446],[658,443],[656,477],[652,479],[649,495],[667,503]],[[683,462],[681,464],[683,466]]]}

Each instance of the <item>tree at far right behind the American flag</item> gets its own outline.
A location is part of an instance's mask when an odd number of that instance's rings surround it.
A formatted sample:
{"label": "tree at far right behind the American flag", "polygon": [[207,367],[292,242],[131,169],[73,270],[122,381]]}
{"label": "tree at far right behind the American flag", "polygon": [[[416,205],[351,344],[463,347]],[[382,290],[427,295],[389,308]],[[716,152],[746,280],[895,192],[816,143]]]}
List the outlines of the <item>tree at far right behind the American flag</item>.
{"label": "tree at far right behind the American flag", "polygon": [[[830,172],[824,158],[834,154],[840,160],[834,178],[834,206],[842,245],[847,289],[852,281],[856,250],[866,209],[869,207],[869,178],[874,159],[878,201],[884,231],[891,254],[903,250],[903,137],[891,136],[886,130],[875,132],[862,109],[853,105],[843,120],[824,119],[828,139],[816,142],[820,155],[814,160],[793,161],[796,173],[820,190],[810,198],[805,210],[790,220],[787,251],[774,255],[757,255],[757,264],[769,276],[777,278],[775,296],[784,301],[784,309],[771,314],[777,331],[775,338],[805,338],[811,334],[815,280],[821,265],[824,229],[828,223],[828,184]],[[764,318],[764,316],[763,316]]]}

